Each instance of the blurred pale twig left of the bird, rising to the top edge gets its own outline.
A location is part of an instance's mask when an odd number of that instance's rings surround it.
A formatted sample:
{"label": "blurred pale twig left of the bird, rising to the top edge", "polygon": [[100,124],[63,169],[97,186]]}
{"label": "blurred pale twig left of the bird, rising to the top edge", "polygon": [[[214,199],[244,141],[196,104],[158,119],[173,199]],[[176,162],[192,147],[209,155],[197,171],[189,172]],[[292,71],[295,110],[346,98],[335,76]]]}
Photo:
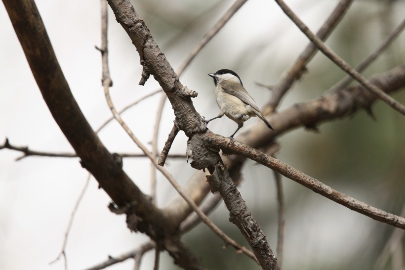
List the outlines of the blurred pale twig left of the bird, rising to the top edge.
{"label": "blurred pale twig left of the bird, rising to the top edge", "polygon": [[201,51],[201,49],[224,27],[230,18],[243,6],[247,0],[237,0],[234,4],[222,15],[222,17],[215,23],[215,25],[206,32],[201,40],[195,45],[193,50],[186,56],[186,59],[180,64],[177,69],[177,74],[180,77],[188,65],[193,61],[194,57]]}

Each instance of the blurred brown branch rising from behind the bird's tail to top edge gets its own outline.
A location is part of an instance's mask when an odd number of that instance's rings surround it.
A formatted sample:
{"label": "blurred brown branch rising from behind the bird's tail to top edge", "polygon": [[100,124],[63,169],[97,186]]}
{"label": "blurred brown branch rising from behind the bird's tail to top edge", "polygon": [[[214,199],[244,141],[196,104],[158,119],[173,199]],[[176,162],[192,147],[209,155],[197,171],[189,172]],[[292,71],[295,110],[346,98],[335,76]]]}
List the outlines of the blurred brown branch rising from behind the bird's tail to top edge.
{"label": "blurred brown branch rising from behind the bird's tail to top edge", "polygon": [[[346,14],[352,2],[353,0],[339,0],[336,7],[318,30],[317,36],[319,39],[323,41],[327,39],[341,18]],[[318,48],[313,43],[308,44],[304,51],[298,56],[297,60],[295,60],[294,64],[283,74],[279,82],[272,88],[272,97],[267,103],[269,107],[266,107],[265,115],[276,110],[287,90],[291,88],[296,80],[301,78],[307,64],[317,51]]]}

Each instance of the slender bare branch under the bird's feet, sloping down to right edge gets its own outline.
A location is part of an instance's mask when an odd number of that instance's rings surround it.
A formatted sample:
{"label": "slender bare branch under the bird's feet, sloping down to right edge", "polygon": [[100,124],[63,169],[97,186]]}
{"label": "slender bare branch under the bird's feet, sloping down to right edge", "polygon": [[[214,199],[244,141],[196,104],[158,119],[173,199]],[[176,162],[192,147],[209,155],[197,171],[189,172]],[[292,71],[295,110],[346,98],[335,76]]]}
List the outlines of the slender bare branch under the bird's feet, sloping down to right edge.
{"label": "slender bare branch under the bird's feet, sloping down to right edge", "polygon": [[205,134],[202,139],[205,143],[208,143],[213,148],[216,149],[226,148],[227,151],[232,151],[235,154],[242,155],[251,160],[254,160],[274,171],[279,172],[286,178],[294,180],[297,183],[312,189],[316,193],[319,193],[322,196],[334,202],[337,202],[353,211],[361,213],[374,220],[405,229],[405,219],[403,217],[387,213],[385,211],[367,205],[364,202],[356,200],[355,198],[352,198],[346,194],[343,194],[325,185],[321,181],[316,180],[298,171],[297,169],[294,169],[291,166],[283,163],[282,161],[260,152],[259,150],[253,147],[247,146],[236,140],[232,141],[229,138],[225,138],[223,136],[216,135],[211,132]]}

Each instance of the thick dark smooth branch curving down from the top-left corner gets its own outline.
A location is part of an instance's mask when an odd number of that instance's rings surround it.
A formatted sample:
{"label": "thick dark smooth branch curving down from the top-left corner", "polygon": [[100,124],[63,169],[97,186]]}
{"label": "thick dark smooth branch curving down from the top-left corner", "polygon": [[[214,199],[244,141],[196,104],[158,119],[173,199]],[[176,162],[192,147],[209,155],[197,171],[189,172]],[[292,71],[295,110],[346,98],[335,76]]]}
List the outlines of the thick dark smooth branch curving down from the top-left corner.
{"label": "thick dark smooth branch curving down from the top-left corner", "polygon": [[35,2],[3,0],[3,3],[46,105],[86,169],[118,206],[136,201],[136,210],[145,222],[153,224],[154,219],[161,219],[155,226],[156,231],[174,231],[162,212],[115,164],[113,155],[83,116],[56,59]]}

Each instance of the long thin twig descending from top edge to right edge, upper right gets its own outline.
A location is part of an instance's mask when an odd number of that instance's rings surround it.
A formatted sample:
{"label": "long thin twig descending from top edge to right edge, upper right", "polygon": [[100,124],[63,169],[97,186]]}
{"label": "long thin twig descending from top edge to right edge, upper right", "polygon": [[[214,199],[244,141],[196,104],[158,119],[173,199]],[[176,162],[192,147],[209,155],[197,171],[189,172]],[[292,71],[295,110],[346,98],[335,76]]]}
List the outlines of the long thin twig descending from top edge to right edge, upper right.
{"label": "long thin twig descending from top edge to right edge, upper right", "polygon": [[326,46],[322,40],[320,40],[312,31],[298,18],[298,16],[285,4],[283,0],[275,0],[279,6],[283,9],[284,13],[297,25],[297,27],[310,39],[319,50],[324,53],[330,60],[332,60],[343,71],[352,76],[355,80],[361,83],[366,89],[376,94],[381,100],[386,102],[395,110],[405,115],[405,106],[399,103],[397,100],[386,94],[370,83],[363,75],[352,68],[342,58],[340,58],[335,52],[333,52],[328,46]]}

